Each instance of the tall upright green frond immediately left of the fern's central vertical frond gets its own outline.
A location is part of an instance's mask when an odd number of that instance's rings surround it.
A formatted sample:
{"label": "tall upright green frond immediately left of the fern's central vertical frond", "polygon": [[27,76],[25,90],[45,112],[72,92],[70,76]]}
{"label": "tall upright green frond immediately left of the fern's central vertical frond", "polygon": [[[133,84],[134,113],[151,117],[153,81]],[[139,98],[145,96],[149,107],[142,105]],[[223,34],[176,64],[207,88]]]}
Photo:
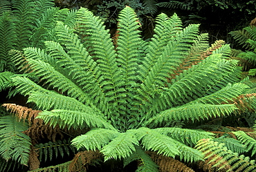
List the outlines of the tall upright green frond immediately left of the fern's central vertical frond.
{"label": "tall upright green frond immediately left of the fern's central vertical frond", "polygon": [[[77,12],[77,31],[84,35],[82,39],[84,47],[96,61],[100,71],[104,73],[101,87],[109,98],[109,102],[115,101],[117,104],[118,102],[122,104],[122,98],[125,96],[122,94],[125,91],[122,88],[124,82],[122,73],[118,69],[116,51],[108,30],[105,30],[99,17],[93,16],[93,13],[86,8],[80,8]],[[113,102],[109,104],[109,107],[112,108],[112,115],[116,115],[118,111],[117,104]]]}

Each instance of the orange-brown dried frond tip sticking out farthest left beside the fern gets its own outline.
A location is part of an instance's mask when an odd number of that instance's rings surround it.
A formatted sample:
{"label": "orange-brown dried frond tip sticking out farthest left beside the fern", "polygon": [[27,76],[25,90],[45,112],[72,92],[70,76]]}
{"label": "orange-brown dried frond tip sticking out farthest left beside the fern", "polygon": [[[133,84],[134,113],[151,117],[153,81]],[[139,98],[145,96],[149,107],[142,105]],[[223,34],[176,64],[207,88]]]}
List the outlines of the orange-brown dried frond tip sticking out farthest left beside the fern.
{"label": "orange-brown dried frond tip sticking out farthest left beside the fern", "polygon": [[28,120],[28,122],[33,122],[35,117],[37,117],[38,113],[41,111],[33,110],[32,108],[27,108],[26,106],[20,106],[17,104],[3,104],[2,106],[6,107],[7,111],[10,110],[10,113],[14,113],[19,120]]}

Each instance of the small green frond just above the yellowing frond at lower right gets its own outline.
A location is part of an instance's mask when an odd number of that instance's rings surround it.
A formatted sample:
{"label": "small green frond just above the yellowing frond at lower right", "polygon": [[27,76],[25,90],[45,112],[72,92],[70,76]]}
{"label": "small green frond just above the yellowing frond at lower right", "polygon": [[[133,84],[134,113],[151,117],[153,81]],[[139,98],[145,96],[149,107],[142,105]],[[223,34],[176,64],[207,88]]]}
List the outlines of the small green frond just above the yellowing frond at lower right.
{"label": "small green frond just above the yellowing frond at lower right", "polygon": [[217,141],[219,143],[225,144],[225,146],[230,149],[232,152],[236,153],[246,153],[246,146],[244,144],[241,144],[238,140],[235,140],[234,138],[231,137],[219,137],[214,139],[214,141]]}

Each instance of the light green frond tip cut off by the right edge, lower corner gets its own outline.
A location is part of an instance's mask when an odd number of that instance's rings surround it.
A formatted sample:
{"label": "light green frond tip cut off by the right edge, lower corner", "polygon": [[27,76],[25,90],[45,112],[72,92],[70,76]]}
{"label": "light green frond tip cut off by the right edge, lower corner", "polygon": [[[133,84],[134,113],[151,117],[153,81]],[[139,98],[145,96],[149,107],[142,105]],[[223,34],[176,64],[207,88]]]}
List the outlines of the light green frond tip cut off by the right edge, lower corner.
{"label": "light green frond tip cut off by the right edge, lower corner", "polygon": [[241,141],[242,144],[246,145],[247,151],[252,151],[252,156],[256,153],[256,140],[244,133],[244,131],[232,132],[237,136],[237,140]]}

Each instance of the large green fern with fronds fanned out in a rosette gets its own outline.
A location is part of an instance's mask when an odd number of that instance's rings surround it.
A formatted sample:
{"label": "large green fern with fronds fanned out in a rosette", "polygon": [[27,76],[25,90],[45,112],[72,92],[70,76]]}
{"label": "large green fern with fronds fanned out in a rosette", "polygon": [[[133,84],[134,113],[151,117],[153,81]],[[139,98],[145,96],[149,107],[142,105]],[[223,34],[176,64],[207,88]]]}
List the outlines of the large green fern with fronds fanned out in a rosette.
{"label": "large green fern with fronds fanned out in a rosette", "polygon": [[239,82],[230,47],[217,41],[208,48],[199,25],[182,28],[175,14],[158,15],[154,36],[144,41],[128,6],[120,12],[115,41],[86,8],[76,12],[73,26],[59,21],[56,40],[45,41],[45,48],[24,48],[26,71],[38,83],[12,77],[16,91],[43,110],[37,118],[53,127],[91,128],[71,141],[75,148],[98,150],[104,161],[138,160],[138,171],[158,171],[145,151],[182,162],[203,160],[192,147],[212,134],[175,123],[237,110],[232,100],[248,86]]}

